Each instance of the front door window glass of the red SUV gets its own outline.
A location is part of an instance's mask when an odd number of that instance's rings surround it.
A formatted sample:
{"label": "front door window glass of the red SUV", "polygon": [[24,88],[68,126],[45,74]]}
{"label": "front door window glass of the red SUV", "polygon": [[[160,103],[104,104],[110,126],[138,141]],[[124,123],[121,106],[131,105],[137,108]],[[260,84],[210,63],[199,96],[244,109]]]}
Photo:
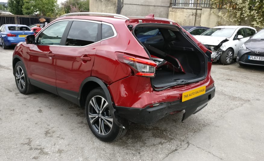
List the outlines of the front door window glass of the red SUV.
{"label": "front door window glass of the red SUV", "polygon": [[37,44],[40,45],[59,45],[68,21],[53,23],[39,34]]}

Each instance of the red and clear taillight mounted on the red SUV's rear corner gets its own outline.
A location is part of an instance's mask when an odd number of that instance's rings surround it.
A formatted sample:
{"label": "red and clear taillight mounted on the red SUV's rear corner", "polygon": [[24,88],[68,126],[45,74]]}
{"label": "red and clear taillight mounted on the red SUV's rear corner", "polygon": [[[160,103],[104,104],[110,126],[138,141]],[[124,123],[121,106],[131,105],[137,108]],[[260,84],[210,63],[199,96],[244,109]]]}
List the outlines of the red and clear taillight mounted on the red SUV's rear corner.
{"label": "red and clear taillight mounted on the red SUV's rear corner", "polygon": [[126,63],[135,73],[135,76],[155,76],[155,67],[157,64],[154,61],[148,59],[141,59],[137,57],[132,57],[122,53],[116,53],[117,58],[120,62]]}

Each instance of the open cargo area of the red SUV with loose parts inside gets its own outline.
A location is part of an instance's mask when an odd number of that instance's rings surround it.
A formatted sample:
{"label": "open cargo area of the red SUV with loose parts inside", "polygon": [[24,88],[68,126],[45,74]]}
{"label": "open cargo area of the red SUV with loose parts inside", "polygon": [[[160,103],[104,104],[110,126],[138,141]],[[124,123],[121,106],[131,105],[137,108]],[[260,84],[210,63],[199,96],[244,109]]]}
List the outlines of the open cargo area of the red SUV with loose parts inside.
{"label": "open cargo area of the red SUV with loose parts inside", "polygon": [[151,80],[156,90],[205,79],[206,54],[178,26],[140,24],[133,34],[157,63]]}

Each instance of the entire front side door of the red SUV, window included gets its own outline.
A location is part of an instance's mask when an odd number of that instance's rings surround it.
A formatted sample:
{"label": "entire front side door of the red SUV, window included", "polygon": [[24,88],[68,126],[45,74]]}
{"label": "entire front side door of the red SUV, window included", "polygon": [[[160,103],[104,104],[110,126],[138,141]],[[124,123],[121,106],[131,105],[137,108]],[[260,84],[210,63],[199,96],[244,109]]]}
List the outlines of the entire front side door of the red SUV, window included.
{"label": "entire front side door of the red SUV, window included", "polygon": [[36,44],[30,44],[27,54],[27,71],[31,84],[57,94],[55,54],[69,21],[49,25],[36,37]]}

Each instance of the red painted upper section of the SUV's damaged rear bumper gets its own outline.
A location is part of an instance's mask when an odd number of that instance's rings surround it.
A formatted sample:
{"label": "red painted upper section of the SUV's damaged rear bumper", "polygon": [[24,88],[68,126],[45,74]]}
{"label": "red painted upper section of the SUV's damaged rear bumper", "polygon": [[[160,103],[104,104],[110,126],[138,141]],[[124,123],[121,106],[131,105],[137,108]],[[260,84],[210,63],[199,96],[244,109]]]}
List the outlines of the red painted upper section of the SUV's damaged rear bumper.
{"label": "red painted upper section of the SUV's damaged rear bumper", "polygon": [[206,79],[189,84],[168,88],[163,91],[154,91],[150,78],[129,76],[108,86],[116,106],[144,108],[146,106],[172,102],[182,99],[182,93],[206,85],[211,88],[214,80],[210,76],[212,63],[208,63],[208,74]]}

